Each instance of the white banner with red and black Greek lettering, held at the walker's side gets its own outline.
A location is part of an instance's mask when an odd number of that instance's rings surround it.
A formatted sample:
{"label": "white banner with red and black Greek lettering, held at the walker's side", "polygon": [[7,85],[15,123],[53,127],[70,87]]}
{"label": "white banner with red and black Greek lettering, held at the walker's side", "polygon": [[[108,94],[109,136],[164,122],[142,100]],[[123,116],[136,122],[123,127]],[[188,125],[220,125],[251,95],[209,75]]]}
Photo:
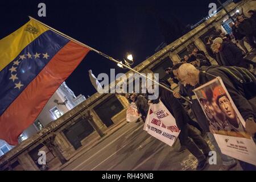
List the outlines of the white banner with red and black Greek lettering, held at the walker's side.
{"label": "white banner with red and black Greek lettering, held at the walker's side", "polygon": [[174,144],[180,133],[175,118],[161,101],[150,104],[143,130],[169,146]]}

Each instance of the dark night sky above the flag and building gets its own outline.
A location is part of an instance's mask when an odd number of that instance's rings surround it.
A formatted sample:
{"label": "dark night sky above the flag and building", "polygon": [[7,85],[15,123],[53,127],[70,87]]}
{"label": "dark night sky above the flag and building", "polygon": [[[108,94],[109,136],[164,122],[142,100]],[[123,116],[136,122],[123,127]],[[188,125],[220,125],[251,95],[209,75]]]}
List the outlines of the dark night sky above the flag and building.
{"label": "dark night sky above the flag and building", "polygon": [[[46,17],[38,16],[40,2],[46,3]],[[0,39],[26,23],[31,15],[115,59],[122,60],[130,52],[135,66],[153,55],[164,41],[152,11],[168,21],[175,15],[184,25],[195,24],[208,15],[210,2],[216,1],[0,1]],[[88,70],[92,69],[97,77],[109,73],[110,68],[115,68],[117,73],[127,71],[89,52],[66,82],[76,96],[80,93],[91,96],[96,90],[90,83]]]}

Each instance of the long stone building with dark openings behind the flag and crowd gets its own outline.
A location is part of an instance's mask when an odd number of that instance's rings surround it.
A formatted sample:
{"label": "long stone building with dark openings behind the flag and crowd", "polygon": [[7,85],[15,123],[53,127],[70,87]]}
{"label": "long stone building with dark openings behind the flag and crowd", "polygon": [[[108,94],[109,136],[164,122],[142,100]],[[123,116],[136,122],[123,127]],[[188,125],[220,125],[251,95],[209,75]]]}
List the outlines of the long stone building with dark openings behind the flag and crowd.
{"label": "long stone building with dark openings behind the flag and crowd", "polygon": [[[250,9],[256,9],[256,1],[232,2],[226,6],[226,9],[231,15],[240,9],[246,13]],[[204,43],[205,36],[212,35],[216,28],[225,30],[223,23],[227,20],[229,17],[226,12],[224,10],[218,11],[217,16],[208,18],[181,38],[148,57],[134,69],[141,73],[159,73],[159,78],[163,78],[165,76],[164,69],[179,63],[181,58],[188,54],[189,47],[197,47],[207,55]],[[208,58],[214,63],[212,58],[209,56]],[[131,72],[126,73],[127,77],[129,73]],[[174,87],[176,88],[175,85]],[[61,92],[67,92],[67,89],[61,90]],[[56,100],[64,102],[65,97]],[[60,108],[60,105],[55,106],[57,109]],[[72,159],[93,139],[102,137],[102,133],[125,122],[127,106],[128,102],[125,97],[110,93],[96,93],[75,107],[70,102],[68,107],[71,110],[66,113],[63,112],[61,117],[44,126],[38,133],[1,156],[0,168],[2,170],[39,170],[38,151],[42,150],[46,151],[47,164],[50,169],[54,169],[54,166],[61,166],[65,160]],[[53,107],[48,107],[46,110],[49,111]],[[42,121],[42,118],[39,117],[39,121],[40,119]],[[54,148],[49,144],[49,139],[52,139],[52,143],[59,148],[58,150],[56,148],[53,150]]]}

